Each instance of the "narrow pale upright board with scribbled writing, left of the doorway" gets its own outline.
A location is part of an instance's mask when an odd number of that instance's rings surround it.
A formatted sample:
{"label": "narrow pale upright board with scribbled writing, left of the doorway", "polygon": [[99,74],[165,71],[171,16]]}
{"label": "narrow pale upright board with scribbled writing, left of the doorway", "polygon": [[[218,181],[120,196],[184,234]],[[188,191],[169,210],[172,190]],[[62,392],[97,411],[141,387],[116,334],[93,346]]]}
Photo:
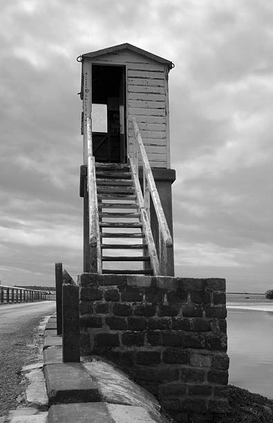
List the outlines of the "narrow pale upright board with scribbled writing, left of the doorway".
{"label": "narrow pale upright board with scribbled writing, left of the doorway", "polygon": [[88,160],[88,141],[87,141],[87,117],[91,117],[91,104],[92,104],[92,75],[91,75],[91,62],[84,60],[83,62],[83,112],[84,112],[84,138],[83,138],[83,156],[84,164]]}

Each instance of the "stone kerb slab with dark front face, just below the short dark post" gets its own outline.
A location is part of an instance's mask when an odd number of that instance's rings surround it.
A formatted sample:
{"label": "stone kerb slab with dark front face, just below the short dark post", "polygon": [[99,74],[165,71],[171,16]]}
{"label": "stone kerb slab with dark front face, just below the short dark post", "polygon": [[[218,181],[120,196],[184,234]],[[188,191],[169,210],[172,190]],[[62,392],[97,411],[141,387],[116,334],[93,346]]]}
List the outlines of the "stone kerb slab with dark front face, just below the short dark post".
{"label": "stone kerb slab with dark front face, just below the short dark post", "polygon": [[100,402],[97,384],[81,363],[46,364],[44,367],[49,406],[75,402]]}

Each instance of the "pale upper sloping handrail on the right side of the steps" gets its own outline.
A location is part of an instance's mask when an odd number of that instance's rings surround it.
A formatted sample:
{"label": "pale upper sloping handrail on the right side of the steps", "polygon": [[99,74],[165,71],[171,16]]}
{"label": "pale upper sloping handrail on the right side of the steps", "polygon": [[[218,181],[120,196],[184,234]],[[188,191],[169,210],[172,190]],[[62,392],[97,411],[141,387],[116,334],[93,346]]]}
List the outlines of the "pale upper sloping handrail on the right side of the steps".
{"label": "pale upper sloping handrail on the right side of the steps", "polygon": [[[138,129],[138,124],[135,120],[135,118],[132,118],[132,122],[133,122],[133,129],[134,129],[134,141],[135,143],[138,142],[138,147],[140,149],[140,153],[141,153],[141,157],[142,157],[142,162],[143,162],[143,173],[145,174],[146,178],[147,178],[147,185],[149,186],[149,191],[151,194],[151,198],[153,200],[153,205],[154,208],[156,210],[156,216],[158,217],[158,227],[160,230],[160,233],[162,235],[162,240],[164,241],[164,244],[166,247],[171,247],[173,245],[173,240],[171,238],[171,232],[169,230],[169,226],[167,224],[167,220],[165,218],[163,209],[162,209],[162,205],[161,205],[161,201],[158,195],[158,190],[156,189],[156,182],[153,179],[153,173],[151,171],[151,166],[149,163],[149,159],[147,157],[147,153],[145,151],[145,147],[142,141],[142,137],[140,135],[140,130]],[[137,154],[135,153],[135,148],[136,146],[134,145],[133,148],[133,156],[137,156]],[[145,181],[146,182],[146,181]],[[145,187],[144,187],[145,188]],[[144,189],[144,191],[146,191]],[[147,196],[147,193],[145,193],[144,195]]]}

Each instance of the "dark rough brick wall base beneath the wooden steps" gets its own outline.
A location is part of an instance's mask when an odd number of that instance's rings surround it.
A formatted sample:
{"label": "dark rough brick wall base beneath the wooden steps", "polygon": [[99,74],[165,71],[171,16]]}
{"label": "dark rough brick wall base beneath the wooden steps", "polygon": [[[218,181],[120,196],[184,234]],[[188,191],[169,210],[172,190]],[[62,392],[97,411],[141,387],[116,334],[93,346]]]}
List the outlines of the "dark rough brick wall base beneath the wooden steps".
{"label": "dark rough brick wall base beneath the wooden steps", "polygon": [[118,364],[177,421],[227,411],[225,279],[84,273],[79,286],[82,353]]}

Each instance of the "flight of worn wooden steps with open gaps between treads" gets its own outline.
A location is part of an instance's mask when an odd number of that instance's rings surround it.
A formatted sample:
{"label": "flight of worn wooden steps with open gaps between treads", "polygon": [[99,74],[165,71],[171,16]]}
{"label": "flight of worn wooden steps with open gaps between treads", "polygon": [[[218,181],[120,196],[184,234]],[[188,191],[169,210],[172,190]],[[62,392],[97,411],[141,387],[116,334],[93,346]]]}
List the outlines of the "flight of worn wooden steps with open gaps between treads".
{"label": "flight of worn wooden steps with open gaps between treads", "polygon": [[[130,167],[97,162],[95,178],[102,273],[153,274]],[[132,239],[138,243],[132,243]],[[117,250],[123,250],[124,255],[117,255]],[[104,268],[107,262],[112,263],[112,268]],[[125,265],[121,265],[124,262],[129,262],[129,267],[133,268],[125,269]],[[118,268],[113,263],[119,263]]]}

